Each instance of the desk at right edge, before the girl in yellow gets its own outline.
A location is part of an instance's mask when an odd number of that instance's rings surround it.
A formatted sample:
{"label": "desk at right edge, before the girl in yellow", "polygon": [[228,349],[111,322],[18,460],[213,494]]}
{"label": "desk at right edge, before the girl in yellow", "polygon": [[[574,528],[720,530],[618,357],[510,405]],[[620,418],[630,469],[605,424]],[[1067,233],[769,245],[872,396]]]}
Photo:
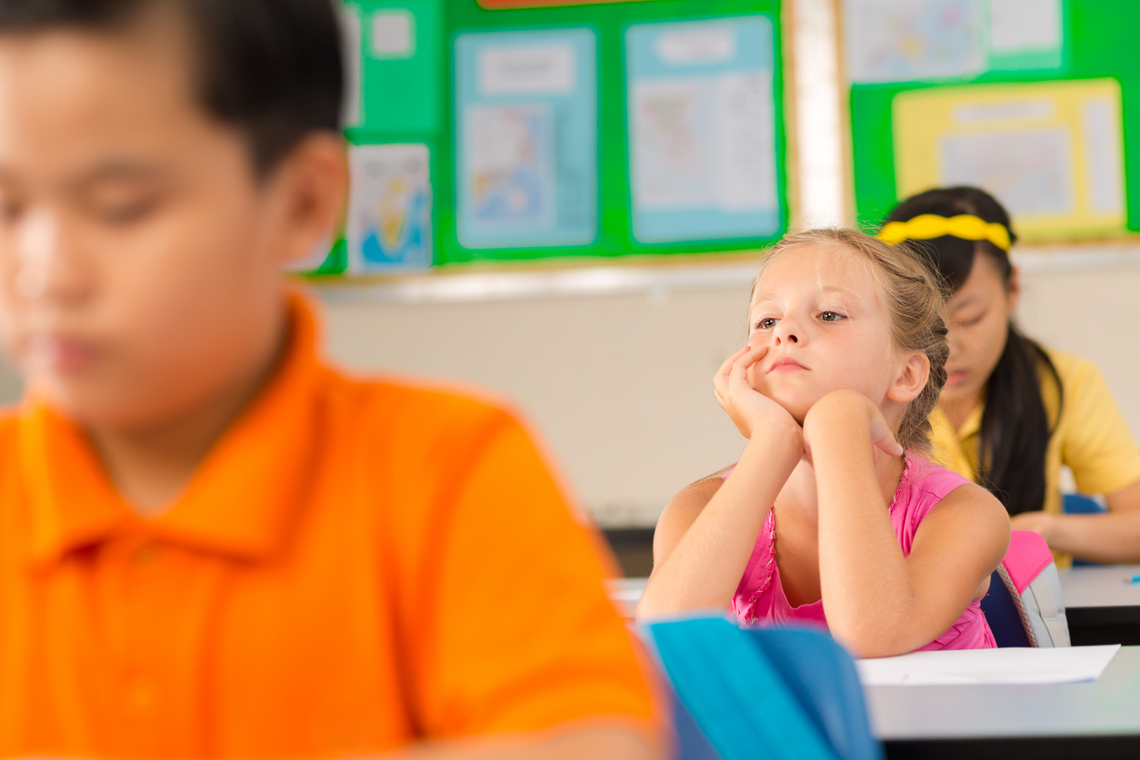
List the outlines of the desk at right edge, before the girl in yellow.
{"label": "desk at right edge, before the girl in yellow", "polygon": [[1061,597],[1075,646],[1140,645],[1140,565],[1081,565],[1060,571]]}

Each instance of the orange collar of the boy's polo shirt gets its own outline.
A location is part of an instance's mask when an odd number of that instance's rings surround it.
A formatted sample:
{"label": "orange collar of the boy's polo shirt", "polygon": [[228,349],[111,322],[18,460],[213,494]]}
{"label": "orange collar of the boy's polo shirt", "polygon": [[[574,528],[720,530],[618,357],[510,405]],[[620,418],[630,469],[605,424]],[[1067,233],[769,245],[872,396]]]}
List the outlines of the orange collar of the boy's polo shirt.
{"label": "orange collar of the boy's polo shirt", "polygon": [[199,549],[258,559],[286,538],[316,451],[317,325],[288,297],[288,344],[266,387],[206,455],[177,501],[141,518],[116,493],[83,431],[47,404],[25,400],[21,467],[31,502],[30,553],[47,564],[129,530]]}

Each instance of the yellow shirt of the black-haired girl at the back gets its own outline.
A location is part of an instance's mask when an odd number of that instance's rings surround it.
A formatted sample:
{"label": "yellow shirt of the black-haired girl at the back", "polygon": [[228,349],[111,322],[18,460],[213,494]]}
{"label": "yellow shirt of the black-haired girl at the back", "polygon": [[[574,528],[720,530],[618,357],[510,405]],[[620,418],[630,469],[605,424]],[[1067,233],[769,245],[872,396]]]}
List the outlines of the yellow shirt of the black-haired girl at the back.
{"label": "yellow shirt of the black-haired girl at the back", "polygon": [[[1060,376],[1065,403],[1058,419],[1057,385],[1042,367],[1042,401],[1049,420],[1056,420],[1056,430],[1045,450],[1045,502],[1042,509],[1059,513],[1061,465],[1073,471],[1077,490],[1082,493],[1115,493],[1140,481],[1140,449],[1097,366],[1060,351],[1047,350],[1047,353]],[[956,431],[942,408],[935,407],[930,415],[935,460],[975,483],[978,482],[982,411],[983,407],[976,408]],[[1057,558],[1058,565],[1069,562],[1068,556],[1058,555]]]}

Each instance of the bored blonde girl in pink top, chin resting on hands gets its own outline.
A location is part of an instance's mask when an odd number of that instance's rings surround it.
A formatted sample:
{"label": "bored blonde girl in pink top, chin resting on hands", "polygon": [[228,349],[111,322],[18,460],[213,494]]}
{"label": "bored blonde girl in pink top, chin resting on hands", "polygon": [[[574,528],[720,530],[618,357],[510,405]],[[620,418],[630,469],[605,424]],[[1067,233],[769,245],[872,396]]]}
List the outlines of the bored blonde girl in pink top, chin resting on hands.
{"label": "bored blonde girl in pink top, chin resting on hands", "polygon": [[638,616],[813,622],[860,656],[994,646],[978,603],[1009,518],[917,453],[948,354],[919,255],[855,230],[788,236],[749,324],[714,382],[748,444],[669,502]]}

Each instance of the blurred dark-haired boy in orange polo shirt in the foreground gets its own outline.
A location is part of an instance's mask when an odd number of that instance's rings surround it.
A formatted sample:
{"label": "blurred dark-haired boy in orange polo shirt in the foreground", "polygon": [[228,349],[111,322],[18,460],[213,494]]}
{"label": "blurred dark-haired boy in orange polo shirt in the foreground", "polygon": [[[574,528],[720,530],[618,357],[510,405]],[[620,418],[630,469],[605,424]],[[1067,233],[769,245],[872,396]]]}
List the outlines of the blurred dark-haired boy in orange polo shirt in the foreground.
{"label": "blurred dark-haired boy in orange polo shirt in the foreground", "polygon": [[659,753],[514,418],[318,357],[341,83],[326,0],[0,0],[0,754]]}

